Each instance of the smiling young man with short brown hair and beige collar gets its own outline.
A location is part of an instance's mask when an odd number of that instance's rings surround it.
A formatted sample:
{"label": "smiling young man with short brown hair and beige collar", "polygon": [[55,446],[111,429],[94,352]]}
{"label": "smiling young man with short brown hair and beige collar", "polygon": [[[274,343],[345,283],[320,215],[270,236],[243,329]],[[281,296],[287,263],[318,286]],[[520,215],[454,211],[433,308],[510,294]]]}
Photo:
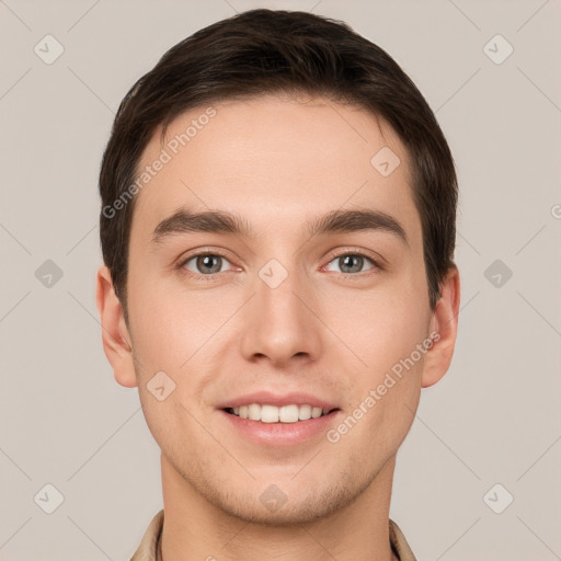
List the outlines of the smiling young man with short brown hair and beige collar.
{"label": "smiling young man with short brown hair and beige collar", "polygon": [[457,333],[457,184],[421,93],[341,22],[254,10],[169,50],[100,175],[103,345],[164,508],[133,560],[414,560],[398,449]]}

